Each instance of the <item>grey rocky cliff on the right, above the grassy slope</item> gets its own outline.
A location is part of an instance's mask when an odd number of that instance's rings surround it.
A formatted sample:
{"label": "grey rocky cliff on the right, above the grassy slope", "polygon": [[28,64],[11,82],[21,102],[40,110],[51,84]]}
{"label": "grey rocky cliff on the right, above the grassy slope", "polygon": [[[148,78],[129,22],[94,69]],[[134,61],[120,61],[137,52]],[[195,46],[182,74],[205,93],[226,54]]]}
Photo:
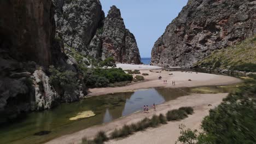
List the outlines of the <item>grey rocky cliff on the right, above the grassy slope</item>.
{"label": "grey rocky cliff on the right, above the grassy slope", "polygon": [[256,1],[189,0],[152,49],[152,64],[191,67],[256,34]]}

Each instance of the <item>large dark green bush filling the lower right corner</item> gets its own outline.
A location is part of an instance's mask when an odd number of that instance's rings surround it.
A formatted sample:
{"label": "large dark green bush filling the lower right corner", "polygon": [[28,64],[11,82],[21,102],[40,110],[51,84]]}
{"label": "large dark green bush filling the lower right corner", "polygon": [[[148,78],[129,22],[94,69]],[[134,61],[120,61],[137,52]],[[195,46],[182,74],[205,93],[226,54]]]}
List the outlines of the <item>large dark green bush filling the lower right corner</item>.
{"label": "large dark green bush filling the lower right corner", "polygon": [[[197,143],[255,143],[256,137],[256,76],[245,80],[243,86],[203,118],[202,132],[182,131],[178,141]],[[196,139],[195,139],[196,137]],[[185,143],[185,142],[184,142]]]}

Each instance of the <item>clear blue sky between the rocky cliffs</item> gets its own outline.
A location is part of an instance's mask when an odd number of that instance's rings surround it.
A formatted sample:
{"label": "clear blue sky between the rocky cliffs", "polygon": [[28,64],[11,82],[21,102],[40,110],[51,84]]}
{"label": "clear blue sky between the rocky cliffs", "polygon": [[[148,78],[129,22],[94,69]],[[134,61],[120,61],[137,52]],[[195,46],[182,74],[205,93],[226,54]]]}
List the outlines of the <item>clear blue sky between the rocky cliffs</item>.
{"label": "clear blue sky between the rocky cliffs", "polygon": [[141,57],[151,57],[155,41],[187,2],[188,0],[101,0],[106,16],[112,5],[120,9],[126,28],[135,35]]}

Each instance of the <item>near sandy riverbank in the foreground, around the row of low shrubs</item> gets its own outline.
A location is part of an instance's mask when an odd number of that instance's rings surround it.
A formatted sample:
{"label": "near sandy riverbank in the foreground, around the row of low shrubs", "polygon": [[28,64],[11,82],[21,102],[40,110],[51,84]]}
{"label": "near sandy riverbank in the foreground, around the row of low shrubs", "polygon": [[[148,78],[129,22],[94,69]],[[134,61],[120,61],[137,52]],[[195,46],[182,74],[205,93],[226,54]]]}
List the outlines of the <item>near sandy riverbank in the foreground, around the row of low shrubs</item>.
{"label": "near sandy riverbank in the foreground, around the row of low shrubs", "polygon": [[[168,122],[166,125],[162,125],[159,128],[150,128],[146,131],[135,133],[130,137],[121,139],[118,141],[109,141],[107,143],[174,143],[179,136],[179,124],[185,124],[188,128],[196,129],[199,128],[202,118],[208,114],[208,111],[214,106],[219,105],[222,99],[226,97],[228,93],[220,94],[191,94],[184,97],[179,97],[175,100],[167,101],[164,104],[156,106],[157,111],[150,110],[150,113],[137,112],[130,116],[117,119],[110,123],[96,125],[88,129],[78,131],[70,135],[64,135],[47,142],[50,143],[80,143],[83,137],[93,138],[96,133],[100,130],[106,131],[107,134],[111,133],[115,128],[121,128],[124,124],[131,124],[145,117],[151,117],[154,114],[159,115],[160,113],[166,113],[172,109],[178,109],[182,106],[192,106],[194,108],[194,114],[188,118],[177,121]],[[208,106],[211,104],[212,106]]]}

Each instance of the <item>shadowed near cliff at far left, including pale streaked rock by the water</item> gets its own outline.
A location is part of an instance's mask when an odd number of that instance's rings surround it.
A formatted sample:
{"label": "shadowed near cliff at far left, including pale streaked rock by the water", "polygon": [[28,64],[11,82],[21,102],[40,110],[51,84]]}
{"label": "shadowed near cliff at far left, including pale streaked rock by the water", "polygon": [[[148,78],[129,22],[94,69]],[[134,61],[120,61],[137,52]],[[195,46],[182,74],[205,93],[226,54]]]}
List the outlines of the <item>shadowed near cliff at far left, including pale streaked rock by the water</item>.
{"label": "shadowed near cliff at far left, including pale streaked rock by the water", "polygon": [[51,64],[72,66],[66,64],[63,45],[55,39],[50,0],[3,0],[0,11],[1,123],[20,113],[49,109],[56,99],[62,100],[44,71]]}

